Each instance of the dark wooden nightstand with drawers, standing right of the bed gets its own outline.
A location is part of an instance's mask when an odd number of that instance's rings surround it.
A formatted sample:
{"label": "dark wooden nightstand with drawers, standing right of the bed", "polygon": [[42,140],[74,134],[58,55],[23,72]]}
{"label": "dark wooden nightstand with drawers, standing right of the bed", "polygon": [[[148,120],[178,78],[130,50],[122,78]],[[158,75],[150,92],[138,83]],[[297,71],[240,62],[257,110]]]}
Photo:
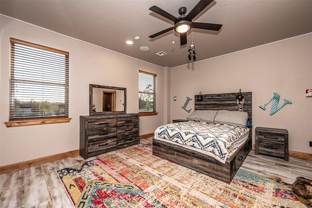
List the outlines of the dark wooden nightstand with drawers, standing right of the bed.
{"label": "dark wooden nightstand with drawers, standing right of the bed", "polygon": [[255,154],[267,154],[282,157],[288,156],[288,131],[286,129],[255,128]]}

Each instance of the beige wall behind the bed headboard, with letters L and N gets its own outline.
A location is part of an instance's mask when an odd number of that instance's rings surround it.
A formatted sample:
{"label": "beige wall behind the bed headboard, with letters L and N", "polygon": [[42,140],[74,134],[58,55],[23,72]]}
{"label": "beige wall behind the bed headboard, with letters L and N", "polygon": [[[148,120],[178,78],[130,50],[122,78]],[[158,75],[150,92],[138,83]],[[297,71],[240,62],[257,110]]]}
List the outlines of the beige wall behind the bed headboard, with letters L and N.
{"label": "beige wall behind the bed headboard, with letters L and N", "polygon": [[[200,91],[215,94],[242,89],[253,92],[254,128],[287,129],[290,150],[312,153],[312,97],[305,97],[305,90],[311,88],[312,34],[307,34],[172,68],[171,119],[185,119],[189,114],[181,108],[186,96],[193,99],[186,109],[193,111],[194,95]],[[292,104],[270,115],[272,102],[265,111],[258,106],[268,101],[274,91],[281,95],[278,106],[285,98]],[[177,96],[176,101],[173,96]]]}

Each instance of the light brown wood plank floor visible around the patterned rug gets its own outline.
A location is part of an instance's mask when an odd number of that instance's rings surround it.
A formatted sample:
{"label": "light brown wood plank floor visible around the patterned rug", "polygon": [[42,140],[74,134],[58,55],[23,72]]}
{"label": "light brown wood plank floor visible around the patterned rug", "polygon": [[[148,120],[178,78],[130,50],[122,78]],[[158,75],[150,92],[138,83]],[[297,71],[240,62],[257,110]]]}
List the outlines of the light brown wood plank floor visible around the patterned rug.
{"label": "light brown wood plank floor visible around the patterned rug", "polygon": [[[152,138],[141,143],[152,142]],[[112,152],[109,152],[112,153]],[[102,156],[104,153],[98,156]],[[89,157],[87,160],[95,159]],[[82,163],[80,156],[0,175],[0,208],[72,208],[56,170]],[[312,161],[289,158],[289,162],[251,151],[241,169],[293,183],[297,176],[312,179]]]}

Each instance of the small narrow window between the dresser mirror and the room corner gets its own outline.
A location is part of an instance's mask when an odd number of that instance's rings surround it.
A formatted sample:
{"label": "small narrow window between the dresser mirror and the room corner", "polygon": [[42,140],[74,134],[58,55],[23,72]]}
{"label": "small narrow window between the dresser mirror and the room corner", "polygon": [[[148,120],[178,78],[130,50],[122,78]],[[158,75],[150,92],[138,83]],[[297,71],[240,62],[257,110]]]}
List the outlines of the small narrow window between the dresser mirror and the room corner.
{"label": "small narrow window between the dresser mirror and the room corner", "polygon": [[156,74],[138,72],[138,112],[140,116],[156,115]]}

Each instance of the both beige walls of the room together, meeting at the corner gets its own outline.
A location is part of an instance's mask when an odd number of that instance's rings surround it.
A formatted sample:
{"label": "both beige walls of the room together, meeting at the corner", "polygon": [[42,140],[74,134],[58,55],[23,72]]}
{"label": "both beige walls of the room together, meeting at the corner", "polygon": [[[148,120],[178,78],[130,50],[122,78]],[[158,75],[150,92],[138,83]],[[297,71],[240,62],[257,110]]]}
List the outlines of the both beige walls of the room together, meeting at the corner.
{"label": "both beige walls of the room together, meeting at the corner", "polygon": [[[312,153],[312,34],[245,51],[162,68],[77,39],[0,15],[0,166],[79,148],[79,115],[89,113],[89,84],[127,88],[127,113],[138,112],[138,70],[157,74],[158,115],[140,117],[140,135],[194,110],[194,95],[253,92],[253,125],[288,129],[290,150]],[[6,128],[9,102],[9,38],[17,38],[70,53],[70,123]],[[196,45],[196,43],[195,43]],[[200,57],[200,54],[197,55]],[[273,92],[293,102],[270,116]],[[173,101],[173,96],[177,100]]]}

